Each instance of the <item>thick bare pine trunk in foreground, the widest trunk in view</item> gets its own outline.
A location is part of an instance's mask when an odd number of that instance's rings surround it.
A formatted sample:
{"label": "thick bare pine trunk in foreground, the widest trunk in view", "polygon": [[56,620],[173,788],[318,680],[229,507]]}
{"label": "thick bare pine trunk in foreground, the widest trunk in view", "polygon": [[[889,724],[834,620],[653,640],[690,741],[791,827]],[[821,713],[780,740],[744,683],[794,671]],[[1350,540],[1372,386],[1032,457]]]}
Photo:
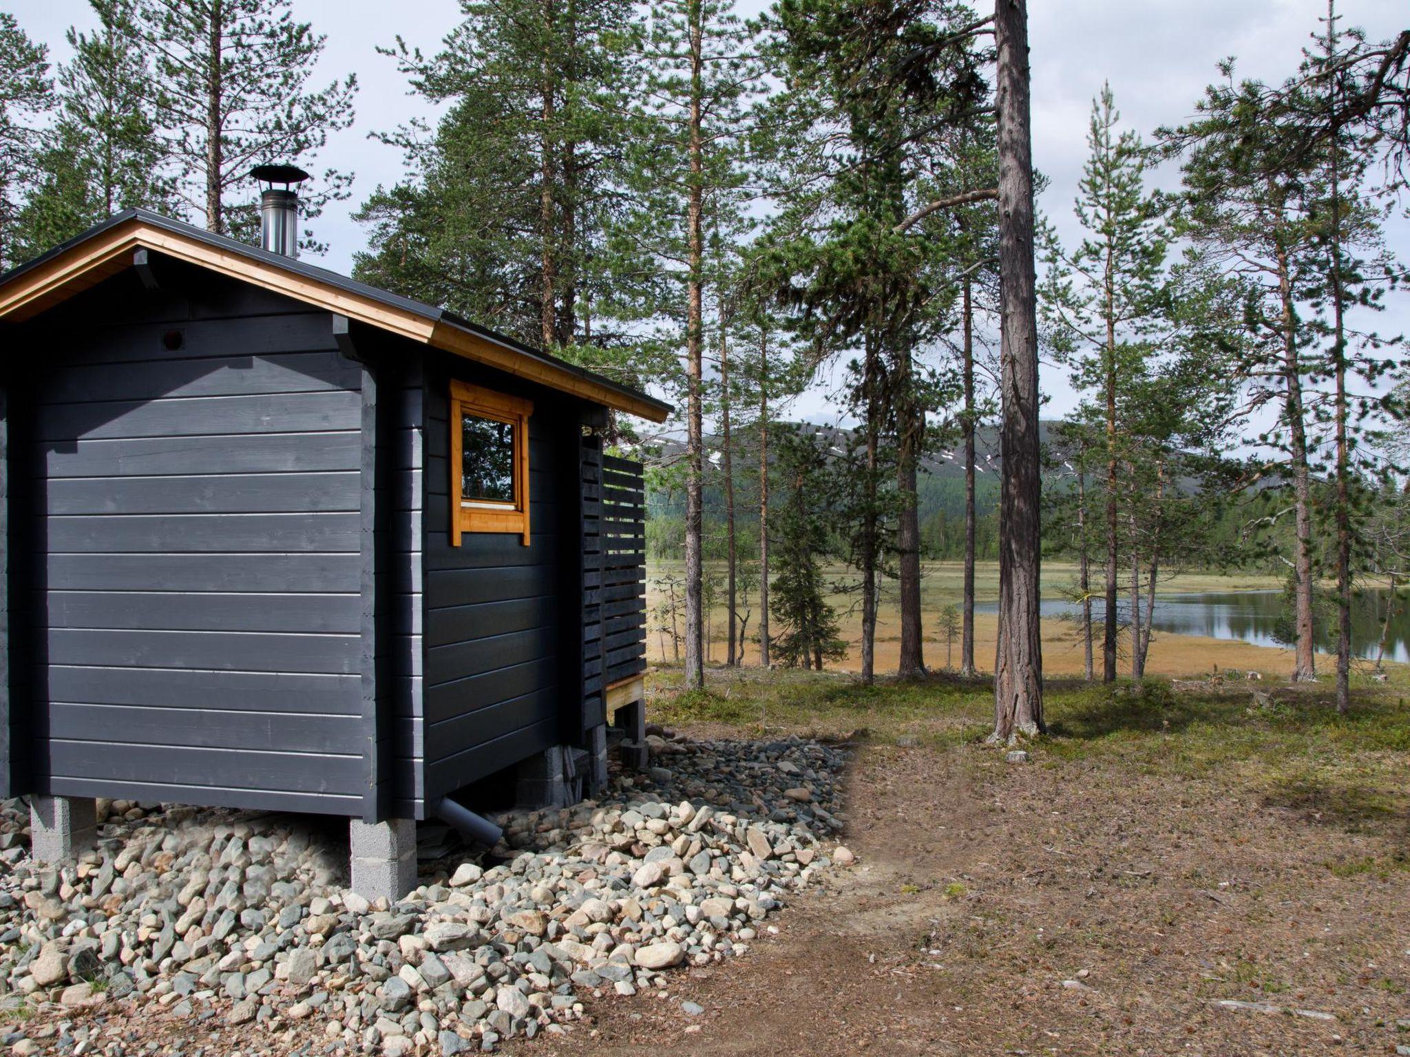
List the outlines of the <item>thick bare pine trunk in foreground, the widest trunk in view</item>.
{"label": "thick bare pine trunk in foreground, the widest trunk in view", "polygon": [[998,648],[994,733],[1008,743],[1046,730],[1039,634],[1038,300],[1026,0],[995,0],[998,49],[998,273],[1003,489],[998,516]]}

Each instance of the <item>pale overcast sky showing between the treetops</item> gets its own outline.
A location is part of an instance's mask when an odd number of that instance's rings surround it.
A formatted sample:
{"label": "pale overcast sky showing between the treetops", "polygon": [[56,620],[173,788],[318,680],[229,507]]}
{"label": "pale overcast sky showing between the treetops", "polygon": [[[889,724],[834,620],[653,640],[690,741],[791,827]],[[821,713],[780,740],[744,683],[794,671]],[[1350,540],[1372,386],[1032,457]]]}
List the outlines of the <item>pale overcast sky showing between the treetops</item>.
{"label": "pale overcast sky showing between the treetops", "polygon": [[[65,28],[92,23],[87,4],[79,0],[11,0],[10,6],[23,28],[47,41],[58,61],[68,56]],[[754,14],[763,6],[761,0],[744,0],[742,10]],[[317,220],[319,237],[330,244],[321,264],[347,272],[364,242],[350,213],[378,183],[400,176],[398,152],[368,140],[368,132],[427,114],[419,100],[406,94],[395,63],[375,48],[400,34],[423,51],[434,49],[458,23],[460,6],[451,0],[391,6],[372,0],[295,0],[293,10],[327,34],[314,78],[327,80],[352,70],[361,82],[357,123],[331,137],[320,159],[357,175],[352,197]],[[1410,21],[1406,0],[1342,0],[1341,13],[1344,24],[1363,27],[1372,39],[1390,37]],[[1324,0],[1034,0],[1034,161],[1050,180],[1039,209],[1056,223],[1063,240],[1077,238],[1072,200],[1086,158],[1091,99],[1104,79],[1111,82],[1122,121],[1149,134],[1190,116],[1203,87],[1217,76],[1215,63],[1225,56],[1237,56],[1238,70],[1246,76],[1279,80],[1292,73],[1299,49],[1323,14]],[[1173,183],[1170,173],[1156,176],[1158,182]],[[1400,259],[1410,261],[1410,224],[1397,220],[1390,238]],[[1410,328],[1407,296],[1397,297],[1400,303],[1378,321],[1382,333]],[[1072,406],[1074,397],[1060,371],[1045,369],[1042,385],[1052,396],[1046,414]],[[825,416],[823,390],[805,396],[798,413]]]}

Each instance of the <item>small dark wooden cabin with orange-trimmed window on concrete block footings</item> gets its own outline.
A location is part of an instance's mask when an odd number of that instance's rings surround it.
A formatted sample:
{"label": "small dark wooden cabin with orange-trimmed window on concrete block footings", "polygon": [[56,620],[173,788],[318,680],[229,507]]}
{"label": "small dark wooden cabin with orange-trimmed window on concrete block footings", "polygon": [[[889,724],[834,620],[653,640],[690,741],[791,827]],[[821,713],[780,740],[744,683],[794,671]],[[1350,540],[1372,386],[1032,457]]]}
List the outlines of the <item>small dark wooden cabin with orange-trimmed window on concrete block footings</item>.
{"label": "small dark wooden cabin with orange-trimmed window on concrete block footings", "polygon": [[348,816],[391,891],[443,798],[601,778],[646,653],[601,431],[666,404],[147,211],[0,276],[0,333],[7,795]]}

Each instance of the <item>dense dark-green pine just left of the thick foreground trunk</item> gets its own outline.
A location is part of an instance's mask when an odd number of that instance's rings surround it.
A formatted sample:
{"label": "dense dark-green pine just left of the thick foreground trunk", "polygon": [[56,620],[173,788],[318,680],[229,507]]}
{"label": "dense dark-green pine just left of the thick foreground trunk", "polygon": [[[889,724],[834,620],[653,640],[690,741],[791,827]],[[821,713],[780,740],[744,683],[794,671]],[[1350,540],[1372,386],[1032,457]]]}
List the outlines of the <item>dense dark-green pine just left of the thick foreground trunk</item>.
{"label": "dense dark-green pine just left of the thick foreground trunk", "polygon": [[[883,417],[894,427],[902,676],[925,671],[915,481],[929,372],[918,350],[945,328],[959,297],[936,214],[995,194],[981,187],[935,199],[928,173],[953,128],[987,117],[987,55],[973,41],[988,21],[939,0],[785,0],[770,16],[771,56],[788,89],[768,121],[781,209],[766,272],[819,358],[860,354],[853,403],[869,450],[884,443]],[[863,679],[871,678],[878,536],[880,526],[869,527],[862,548]]]}

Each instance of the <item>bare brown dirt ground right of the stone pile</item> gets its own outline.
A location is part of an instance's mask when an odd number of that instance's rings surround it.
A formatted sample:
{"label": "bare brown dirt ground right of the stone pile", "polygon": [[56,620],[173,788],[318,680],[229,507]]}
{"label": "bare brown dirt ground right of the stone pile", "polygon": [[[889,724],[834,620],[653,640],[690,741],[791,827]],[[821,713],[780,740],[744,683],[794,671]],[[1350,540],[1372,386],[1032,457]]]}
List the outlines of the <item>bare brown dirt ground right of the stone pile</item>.
{"label": "bare brown dirt ground right of the stone pile", "polygon": [[1410,871],[1375,864],[1403,840],[1330,822],[1110,762],[871,746],[857,867],[747,957],[512,1053],[1393,1054]]}

